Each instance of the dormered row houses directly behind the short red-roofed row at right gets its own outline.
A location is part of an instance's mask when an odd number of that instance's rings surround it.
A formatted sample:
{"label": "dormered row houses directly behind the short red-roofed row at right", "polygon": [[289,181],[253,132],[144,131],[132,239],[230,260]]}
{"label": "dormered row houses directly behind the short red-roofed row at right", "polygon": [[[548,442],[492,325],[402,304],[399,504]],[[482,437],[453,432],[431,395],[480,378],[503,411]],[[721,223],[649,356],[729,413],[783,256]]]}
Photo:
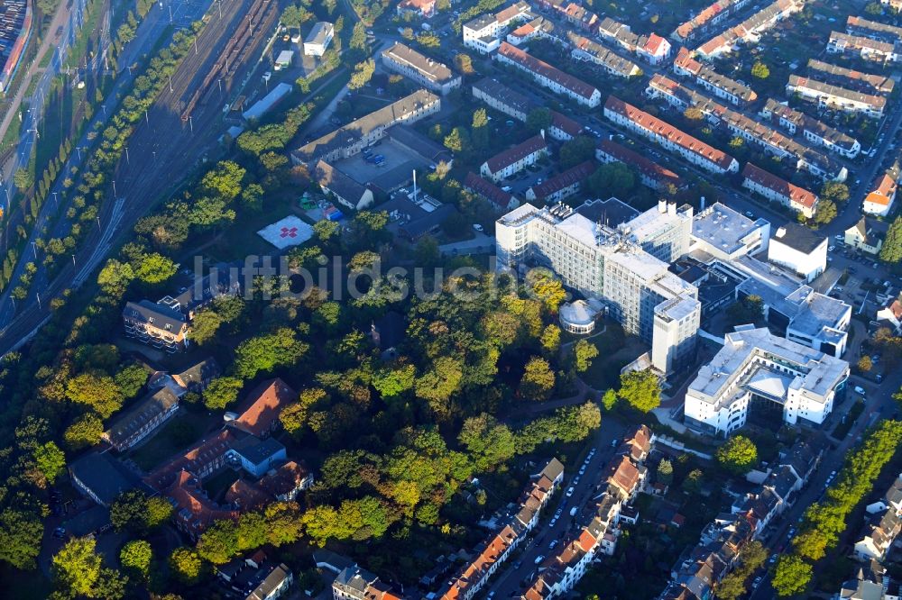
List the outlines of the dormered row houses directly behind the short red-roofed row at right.
{"label": "dormered row houses directly behind the short red-roofed row at right", "polygon": [[744,114],[728,110],[723,114],[723,124],[733,134],[760,146],[767,153],[780,159],[795,160],[796,168],[805,169],[815,177],[845,181],[849,176],[849,170],[835,160],[787,138]]}

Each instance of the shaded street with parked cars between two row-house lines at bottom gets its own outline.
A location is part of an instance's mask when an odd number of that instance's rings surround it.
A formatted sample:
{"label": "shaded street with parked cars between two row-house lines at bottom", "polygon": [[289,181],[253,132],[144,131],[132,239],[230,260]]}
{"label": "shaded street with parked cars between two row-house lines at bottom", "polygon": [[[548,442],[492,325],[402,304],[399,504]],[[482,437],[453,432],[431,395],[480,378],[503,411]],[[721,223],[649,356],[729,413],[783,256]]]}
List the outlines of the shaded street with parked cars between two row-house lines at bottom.
{"label": "shaded street with parked cars between two row-house lines at bottom", "polygon": [[[599,487],[603,487],[603,468],[614,453],[612,441],[621,441],[626,431],[626,425],[614,419],[602,420],[602,426],[595,432],[591,442],[596,451],[586,465],[584,474],[579,476],[578,471],[584,464],[588,450],[566,465],[564,482],[542,511],[536,529],[520,545],[520,549],[517,550],[519,556],[509,559],[492,577],[491,585],[485,590],[487,593],[494,592],[498,598],[519,595],[523,590],[523,584],[536,576],[538,563],[560,550],[560,544],[567,534],[577,529],[575,523],[582,523],[579,517],[584,516],[584,509],[594,507],[594,500],[603,492]],[[574,483],[575,477],[579,477],[578,483]],[[574,488],[573,495],[567,497],[566,492],[571,486]],[[575,517],[571,517],[570,511],[574,506],[579,508],[579,511]],[[560,518],[552,527],[549,518],[557,511],[560,511]],[[555,542],[554,549],[549,548],[552,542]]]}

